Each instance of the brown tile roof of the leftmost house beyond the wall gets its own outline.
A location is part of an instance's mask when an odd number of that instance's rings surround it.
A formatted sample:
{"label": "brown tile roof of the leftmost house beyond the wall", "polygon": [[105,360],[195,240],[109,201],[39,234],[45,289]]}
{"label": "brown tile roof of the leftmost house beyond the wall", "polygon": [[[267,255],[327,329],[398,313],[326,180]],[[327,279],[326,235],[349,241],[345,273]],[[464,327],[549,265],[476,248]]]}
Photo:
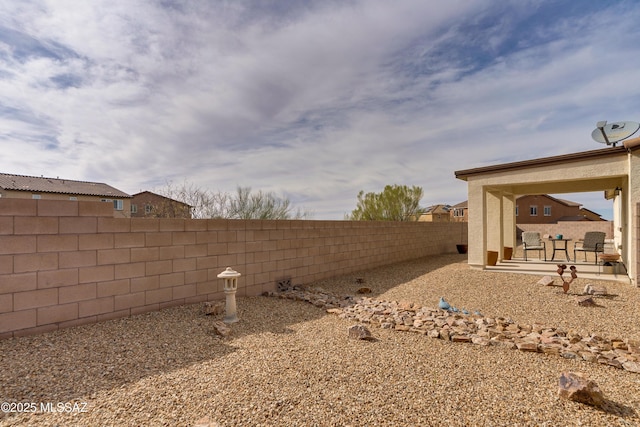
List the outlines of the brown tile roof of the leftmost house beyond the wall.
{"label": "brown tile roof of the leftmost house beyond the wall", "polygon": [[8,173],[0,173],[0,189],[83,196],[131,197],[123,191],[100,182],[73,181],[69,179],[12,175]]}

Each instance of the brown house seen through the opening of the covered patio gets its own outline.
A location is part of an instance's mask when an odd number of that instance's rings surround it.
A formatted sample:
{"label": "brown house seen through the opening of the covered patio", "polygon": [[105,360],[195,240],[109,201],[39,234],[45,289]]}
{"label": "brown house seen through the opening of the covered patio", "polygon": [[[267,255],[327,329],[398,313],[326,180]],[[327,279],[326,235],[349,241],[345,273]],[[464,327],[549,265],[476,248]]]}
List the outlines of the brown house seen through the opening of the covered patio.
{"label": "brown house seen through the opening of the covered patio", "polygon": [[548,194],[516,198],[516,224],[555,224],[558,221],[602,221],[602,218],[582,208],[580,203]]}

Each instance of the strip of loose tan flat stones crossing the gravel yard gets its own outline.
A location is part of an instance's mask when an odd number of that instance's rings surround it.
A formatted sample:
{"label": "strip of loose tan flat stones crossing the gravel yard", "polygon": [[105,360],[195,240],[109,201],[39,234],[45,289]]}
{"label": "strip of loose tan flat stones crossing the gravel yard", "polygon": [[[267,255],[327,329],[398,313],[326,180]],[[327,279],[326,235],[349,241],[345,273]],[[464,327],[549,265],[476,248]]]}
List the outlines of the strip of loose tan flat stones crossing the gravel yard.
{"label": "strip of loose tan flat stones crossing the gravel yard", "polygon": [[511,319],[465,315],[421,307],[411,302],[339,296],[322,288],[293,288],[267,296],[305,301],[340,318],[383,329],[415,332],[446,341],[495,345],[533,353],[582,359],[640,373],[640,341],[588,337],[540,324],[518,325]]}

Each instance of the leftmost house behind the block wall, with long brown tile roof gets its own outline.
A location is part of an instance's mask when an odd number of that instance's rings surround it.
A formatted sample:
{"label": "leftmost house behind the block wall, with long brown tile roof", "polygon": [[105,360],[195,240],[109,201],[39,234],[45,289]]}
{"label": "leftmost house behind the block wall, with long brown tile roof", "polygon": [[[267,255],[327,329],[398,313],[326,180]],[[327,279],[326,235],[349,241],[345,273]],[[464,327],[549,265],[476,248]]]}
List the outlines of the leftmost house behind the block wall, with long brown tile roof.
{"label": "leftmost house behind the block wall, with long brown tile roof", "polygon": [[114,217],[129,217],[131,196],[100,182],[0,173],[0,197],[113,203]]}

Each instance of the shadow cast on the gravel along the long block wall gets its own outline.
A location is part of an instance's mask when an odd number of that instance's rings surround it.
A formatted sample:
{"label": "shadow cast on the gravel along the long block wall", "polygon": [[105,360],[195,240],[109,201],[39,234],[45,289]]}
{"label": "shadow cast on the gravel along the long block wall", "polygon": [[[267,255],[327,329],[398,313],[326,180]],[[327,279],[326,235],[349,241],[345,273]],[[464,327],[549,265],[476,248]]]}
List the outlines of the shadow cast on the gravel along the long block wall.
{"label": "shadow cast on the gravel along the long block wall", "polygon": [[[402,283],[466,255],[437,255],[384,265],[377,269],[324,279],[308,285],[339,295],[354,295],[370,286],[375,297]],[[428,267],[425,266],[428,264]],[[369,276],[384,280],[367,283]],[[385,277],[389,275],[389,277]],[[364,283],[356,279],[362,278]],[[295,283],[294,283],[295,285]],[[238,349],[237,339],[252,334],[288,334],[292,325],[328,314],[306,302],[277,297],[239,297],[240,321],[227,338],[216,335],[203,304],[171,307],[132,317],[76,326],[21,338],[0,340],[0,395],[8,402],[68,402],[91,398],[143,378],[226,357]],[[0,421],[10,416],[0,414]]]}

